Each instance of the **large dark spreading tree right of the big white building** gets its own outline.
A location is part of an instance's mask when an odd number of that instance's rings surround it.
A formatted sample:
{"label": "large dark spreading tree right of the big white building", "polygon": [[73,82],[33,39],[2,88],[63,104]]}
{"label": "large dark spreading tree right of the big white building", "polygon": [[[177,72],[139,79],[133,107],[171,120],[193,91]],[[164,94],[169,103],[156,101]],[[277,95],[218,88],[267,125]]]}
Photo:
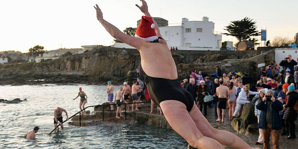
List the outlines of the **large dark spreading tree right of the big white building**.
{"label": "large dark spreading tree right of the big white building", "polygon": [[257,30],[256,22],[253,19],[245,17],[242,20],[231,21],[228,26],[225,26],[226,31],[229,33],[223,33],[225,35],[234,36],[238,41],[251,41],[254,44],[258,41],[255,37],[260,36],[261,32]]}

